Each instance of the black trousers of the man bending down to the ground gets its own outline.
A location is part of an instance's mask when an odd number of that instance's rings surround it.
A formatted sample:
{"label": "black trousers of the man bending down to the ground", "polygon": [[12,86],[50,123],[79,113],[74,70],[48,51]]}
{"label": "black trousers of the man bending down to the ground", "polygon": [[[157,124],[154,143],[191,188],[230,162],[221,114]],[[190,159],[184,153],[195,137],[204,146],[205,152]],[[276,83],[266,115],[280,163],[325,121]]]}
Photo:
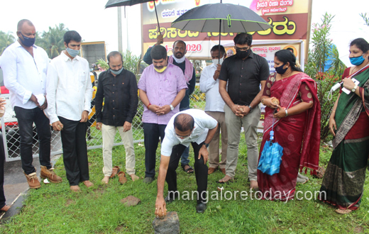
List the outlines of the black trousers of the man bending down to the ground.
{"label": "black trousers of the man bending down to the ground", "polygon": [[[204,143],[191,143],[191,145],[194,149],[194,174],[197,183],[197,204],[200,204],[206,201],[206,194],[202,194],[202,192],[206,192],[207,188],[208,167],[204,164],[203,157],[197,159],[199,157],[199,150]],[[184,149],[186,149],[184,145],[175,145],[172,149],[172,155],[170,155],[167,177],[165,178],[168,184],[168,191],[172,191],[170,194],[174,194],[174,192],[177,191],[177,172],[175,172],[175,170],[178,167]],[[202,199],[202,197],[204,199]]]}

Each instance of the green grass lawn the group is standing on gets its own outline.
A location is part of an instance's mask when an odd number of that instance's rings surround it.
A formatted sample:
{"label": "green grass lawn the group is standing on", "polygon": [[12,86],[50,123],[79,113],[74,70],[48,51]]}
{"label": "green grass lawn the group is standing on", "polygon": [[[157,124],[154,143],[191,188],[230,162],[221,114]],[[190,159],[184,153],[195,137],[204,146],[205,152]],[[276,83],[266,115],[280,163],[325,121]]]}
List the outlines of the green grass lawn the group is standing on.
{"label": "green grass lawn the group is standing on", "polygon": [[[144,177],[144,147],[135,144],[136,168],[138,176]],[[114,147],[114,165],[125,165],[123,146]],[[157,152],[157,169],[160,152]],[[331,156],[329,147],[321,147],[321,165],[326,165]],[[193,153],[191,152],[191,165]],[[70,192],[62,159],[55,170],[63,182],[43,184],[40,189],[31,190],[21,214],[13,217],[0,232],[4,233],[153,233],[155,218],[156,180],[144,184],[143,179],[119,184],[118,178],[111,179],[109,185],[101,184],[102,152],[89,150],[90,180],[94,186],[82,192]],[[247,150],[244,137],[241,138],[236,182],[224,185],[225,191],[250,191],[247,182]],[[124,169],[124,168],[123,168]],[[157,170],[158,173],[158,170]],[[179,190],[196,190],[194,174],[186,174],[177,169]],[[216,171],[209,175],[208,191],[216,191],[223,174]],[[297,190],[318,191],[321,179],[309,175],[309,182],[298,184]],[[165,187],[166,189],[166,187]],[[166,193],[165,193],[166,194]],[[220,192],[219,192],[220,194]],[[367,233],[369,231],[368,183],[365,183],[363,201],[358,211],[348,215],[338,215],[334,208],[314,201],[258,201],[242,200],[239,196],[209,201],[203,214],[195,212],[196,201],[175,201],[167,205],[168,211],[177,211],[182,233]],[[125,207],[119,201],[133,195],[141,199],[141,204]],[[228,192],[229,197],[229,192]]]}

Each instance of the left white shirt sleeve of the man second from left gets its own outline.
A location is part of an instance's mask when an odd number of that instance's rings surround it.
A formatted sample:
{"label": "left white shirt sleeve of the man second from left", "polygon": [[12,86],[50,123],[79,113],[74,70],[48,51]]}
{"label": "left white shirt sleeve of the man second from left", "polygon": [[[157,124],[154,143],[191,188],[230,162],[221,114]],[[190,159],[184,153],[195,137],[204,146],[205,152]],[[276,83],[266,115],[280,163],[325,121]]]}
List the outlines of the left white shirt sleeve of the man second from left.
{"label": "left white shirt sleeve of the man second from left", "polygon": [[48,100],[48,108],[46,108],[46,112],[50,118],[50,123],[53,124],[56,121],[59,121],[56,113],[56,88],[57,88],[57,71],[53,65],[53,62],[50,62],[48,66],[48,75],[46,79],[46,99]]}

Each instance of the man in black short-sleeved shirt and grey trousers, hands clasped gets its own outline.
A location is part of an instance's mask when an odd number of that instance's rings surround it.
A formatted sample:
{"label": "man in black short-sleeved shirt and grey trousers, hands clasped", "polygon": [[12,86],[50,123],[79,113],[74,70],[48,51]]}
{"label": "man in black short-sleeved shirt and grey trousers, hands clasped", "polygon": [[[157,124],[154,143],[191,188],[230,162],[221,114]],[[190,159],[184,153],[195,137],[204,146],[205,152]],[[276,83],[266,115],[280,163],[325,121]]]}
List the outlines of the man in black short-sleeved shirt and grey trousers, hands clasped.
{"label": "man in black short-sleeved shirt and grey trousers, hands clasped", "polygon": [[[252,35],[240,33],[233,41],[236,55],[224,60],[219,75],[219,93],[226,103],[224,112],[226,113],[228,131],[226,176],[219,182],[228,182],[235,175],[238,144],[243,126],[248,148],[248,179],[250,179],[250,188],[255,189],[258,187],[257,127],[260,120],[259,103],[265,81],[269,77],[269,66],[265,58],[254,54],[251,50]],[[226,89],[227,82],[228,91]]]}

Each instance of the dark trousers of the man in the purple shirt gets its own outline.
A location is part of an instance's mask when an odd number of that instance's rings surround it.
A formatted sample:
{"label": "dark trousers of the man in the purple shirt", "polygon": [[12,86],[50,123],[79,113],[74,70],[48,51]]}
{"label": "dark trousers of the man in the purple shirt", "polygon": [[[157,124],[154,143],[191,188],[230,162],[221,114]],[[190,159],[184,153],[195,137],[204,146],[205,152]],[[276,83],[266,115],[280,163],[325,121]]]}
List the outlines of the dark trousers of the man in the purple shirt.
{"label": "dark trousers of the man in the purple shirt", "polygon": [[163,142],[165,124],[143,123],[143,138],[145,143],[145,177],[155,177],[156,149],[159,137]]}

